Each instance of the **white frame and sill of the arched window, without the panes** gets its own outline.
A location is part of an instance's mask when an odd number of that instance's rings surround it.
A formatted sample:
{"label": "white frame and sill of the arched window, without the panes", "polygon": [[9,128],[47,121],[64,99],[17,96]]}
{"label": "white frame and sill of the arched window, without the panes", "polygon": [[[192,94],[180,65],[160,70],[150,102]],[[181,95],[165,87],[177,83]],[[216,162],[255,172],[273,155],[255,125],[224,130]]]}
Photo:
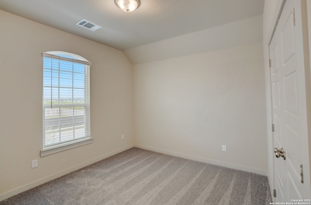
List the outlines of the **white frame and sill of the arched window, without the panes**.
{"label": "white frame and sill of the arched window, without the panes", "polygon": [[[61,55],[61,56],[60,56]],[[63,57],[63,56],[67,56],[67,57]],[[69,58],[68,58],[69,57]],[[72,106],[84,106],[85,110],[84,110],[84,116],[85,116],[85,120],[84,120],[84,125],[85,125],[85,133],[87,133],[87,136],[85,135],[84,137],[78,137],[77,139],[73,139],[73,140],[67,140],[67,141],[63,141],[63,142],[55,142],[52,143],[50,145],[46,144],[45,139],[46,139],[46,129],[45,129],[45,109],[49,108],[49,106],[44,104],[44,91],[45,91],[45,84],[44,84],[44,71],[45,71],[45,67],[44,67],[44,58],[49,58],[51,60],[58,60],[58,61],[65,61],[65,62],[69,62],[69,63],[80,63],[80,64],[84,64],[85,66],[85,79],[84,79],[84,99],[87,102],[84,103],[74,103],[73,102],[73,98],[72,98],[72,103],[69,103],[68,107],[71,108]],[[43,122],[43,142],[42,142],[42,150],[40,151],[40,156],[44,157],[47,155],[51,155],[57,152],[62,152],[68,149],[72,149],[75,147],[79,147],[79,146],[83,146],[89,143],[93,142],[93,138],[91,138],[90,135],[90,84],[89,84],[89,78],[90,78],[90,66],[92,63],[90,63],[89,61],[87,61],[85,58],[83,58],[82,56],[79,56],[77,54],[73,54],[73,53],[69,53],[69,52],[64,52],[64,51],[49,51],[49,52],[44,52],[42,53],[42,59],[43,59],[43,85],[42,85],[42,122]],[[86,67],[87,66],[87,67]],[[52,67],[51,67],[51,72],[52,72]],[[61,70],[59,69],[58,72],[61,72]],[[74,73],[74,71],[72,70],[72,72]],[[73,78],[73,74],[72,73],[72,78]],[[87,78],[87,79],[86,79]],[[52,80],[52,75],[51,75],[51,80]],[[58,80],[60,80],[60,77],[58,77]],[[73,81],[73,80],[72,80]],[[74,85],[72,84],[71,86],[72,90],[74,89]],[[58,87],[59,89],[59,87]],[[52,85],[51,85],[51,92],[52,92]],[[72,91],[73,92],[73,91]],[[52,108],[52,95],[51,95],[51,108]],[[54,104],[53,108],[61,108],[62,104],[60,104],[59,102],[57,104]],[[60,119],[61,117],[59,117]],[[74,122],[74,121],[73,121]],[[59,132],[60,132],[60,136],[61,136],[61,128],[59,127]],[[60,137],[61,138],[61,137]]]}

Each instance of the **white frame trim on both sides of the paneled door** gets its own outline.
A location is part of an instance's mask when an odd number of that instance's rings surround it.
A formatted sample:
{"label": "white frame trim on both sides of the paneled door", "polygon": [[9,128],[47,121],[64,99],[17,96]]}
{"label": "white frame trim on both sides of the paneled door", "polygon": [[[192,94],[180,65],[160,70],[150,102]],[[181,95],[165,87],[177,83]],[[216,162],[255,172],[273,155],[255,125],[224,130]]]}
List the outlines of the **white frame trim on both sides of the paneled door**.
{"label": "white frame trim on both sides of the paneled door", "polygon": [[[284,7],[284,4],[287,0],[278,0],[277,1],[277,5],[276,5],[276,10],[274,12],[274,16],[273,16],[273,20],[272,20],[272,23],[271,23],[271,27],[270,27],[270,30],[269,30],[269,34],[268,34],[268,41],[267,42],[264,42],[266,45],[267,45],[267,48],[268,48],[268,52],[269,52],[269,59],[271,59],[270,57],[270,43],[272,41],[272,38],[273,38],[273,35],[274,35],[274,32],[276,30],[276,26],[277,26],[277,22],[278,22],[278,19],[281,15],[281,12],[283,10],[283,7]],[[299,8],[301,11],[302,11],[302,15],[300,16],[301,18],[299,19],[302,23],[302,24],[305,24],[307,25],[307,8],[305,9],[305,11],[302,10],[302,5],[304,5],[306,7],[307,5],[307,2],[306,0],[300,0],[300,7]],[[305,12],[305,14],[304,14]],[[298,17],[298,16],[297,16]],[[305,22],[304,22],[305,21]],[[308,183],[309,184],[309,188],[311,186],[311,69],[310,69],[310,54],[309,54],[309,40],[308,40],[308,27],[304,28],[302,26],[302,35],[303,35],[303,38],[302,38],[302,47],[303,47],[303,53],[299,53],[300,55],[300,58],[298,59],[304,59],[303,61],[303,64],[304,64],[304,67],[305,67],[305,80],[306,80],[306,84],[305,84],[305,87],[306,87],[306,104],[307,104],[307,126],[308,126],[308,139],[309,139],[309,142],[308,142],[308,156],[309,156],[309,164],[307,165],[304,165],[304,168],[306,166],[308,166],[307,168],[307,172],[305,172],[305,169],[304,169],[304,180],[305,180],[305,183]],[[310,39],[311,41],[311,39]],[[269,111],[267,113],[269,113],[269,116],[267,116],[267,119],[268,117],[270,119],[268,119],[269,122],[272,122],[273,123],[273,98],[272,98],[272,78],[271,78],[271,67],[269,67],[269,75],[266,76],[268,77],[269,79],[266,80],[267,82],[269,82],[269,91],[270,91],[270,96],[269,96],[269,109],[268,110],[271,110],[270,113]],[[268,97],[268,95],[267,95]],[[271,124],[272,124],[271,123]],[[268,125],[267,127],[267,130],[271,130],[271,126],[272,125]],[[271,133],[272,133],[272,130],[271,130]],[[274,148],[274,135],[273,133],[271,135],[268,135],[268,137],[271,137],[271,142],[272,144],[270,145],[270,147],[268,146],[268,149],[273,149]],[[272,147],[271,147],[272,146]],[[270,166],[273,166],[271,170],[273,170],[273,174],[272,175],[269,175],[268,173],[268,179],[269,179],[269,184],[270,184],[270,193],[271,193],[271,196],[272,196],[272,201],[275,202],[276,201],[276,198],[273,196],[273,189],[276,189],[276,172],[275,172],[275,160],[276,160],[276,157],[275,155],[272,155],[271,154],[271,150],[268,150],[268,158],[273,158],[272,161],[273,161],[273,164],[269,164],[268,163],[268,170],[269,170],[269,165]],[[273,153],[274,154],[274,153]]]}

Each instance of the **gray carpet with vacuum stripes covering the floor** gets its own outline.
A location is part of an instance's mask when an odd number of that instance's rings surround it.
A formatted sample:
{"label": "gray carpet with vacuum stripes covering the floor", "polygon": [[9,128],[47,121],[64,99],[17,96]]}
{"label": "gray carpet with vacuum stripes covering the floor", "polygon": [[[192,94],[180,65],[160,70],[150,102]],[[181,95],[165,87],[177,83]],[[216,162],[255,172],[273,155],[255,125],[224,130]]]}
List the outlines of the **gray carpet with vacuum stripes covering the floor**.
{"label": "gray carpet with vacuum stripes covering the floor", "polygon": [[268,205],[266,176],[132,148],[0,205]]}

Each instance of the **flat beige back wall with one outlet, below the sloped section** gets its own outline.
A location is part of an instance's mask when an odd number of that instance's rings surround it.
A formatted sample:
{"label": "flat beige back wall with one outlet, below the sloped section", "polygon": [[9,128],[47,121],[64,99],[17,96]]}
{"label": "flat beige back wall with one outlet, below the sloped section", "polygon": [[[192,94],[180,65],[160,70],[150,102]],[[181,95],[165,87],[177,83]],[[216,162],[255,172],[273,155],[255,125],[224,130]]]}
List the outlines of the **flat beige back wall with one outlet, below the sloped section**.
{"label": "flat beige back wall with one outlet, below the sloped section", "polygon": [[134,65],[135,144],[266,174],[262,53],[259,43]]}

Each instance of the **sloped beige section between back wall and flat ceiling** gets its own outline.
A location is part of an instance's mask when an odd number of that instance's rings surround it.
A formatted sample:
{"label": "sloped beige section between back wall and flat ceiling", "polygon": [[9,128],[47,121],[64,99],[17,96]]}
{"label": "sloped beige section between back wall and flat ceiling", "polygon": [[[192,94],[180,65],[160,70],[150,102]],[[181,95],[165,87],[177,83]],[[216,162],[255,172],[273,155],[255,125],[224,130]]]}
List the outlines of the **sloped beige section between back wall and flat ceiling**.
{"label": "sloped beige section between back wall and flat ceiling", "polygon": [[262,15],[124,50],[133,64],[262,42]]}

